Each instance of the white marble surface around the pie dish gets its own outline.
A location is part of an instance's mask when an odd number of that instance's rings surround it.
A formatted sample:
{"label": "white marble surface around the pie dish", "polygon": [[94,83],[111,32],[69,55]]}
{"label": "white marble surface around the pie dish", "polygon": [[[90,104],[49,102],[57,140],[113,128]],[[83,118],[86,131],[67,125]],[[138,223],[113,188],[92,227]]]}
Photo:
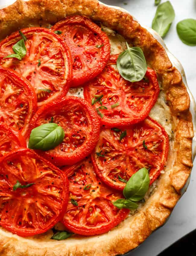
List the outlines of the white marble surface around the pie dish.
{"label": "white marble surface around the pie dish", "polygon": [[[0,0],[0,6],[13,2],[13,0]],[[127,9],[141,25],[151,26],[156,12],[154,0],[102,0],[102,2]],[[170,2],[174,7],[176,17],[164,40],[170,52],[182,63],[188,86],[196,99],[196,46],[184,45],[176,33],[176,24],[180,20],[196,18],[196,0],[170,0]],[[139,248],[132,251],[131,256],[156,256],[170,244],[196,228],[196,162],[194,164],[190,185],[174,208],[169,221],[151,234]]]}

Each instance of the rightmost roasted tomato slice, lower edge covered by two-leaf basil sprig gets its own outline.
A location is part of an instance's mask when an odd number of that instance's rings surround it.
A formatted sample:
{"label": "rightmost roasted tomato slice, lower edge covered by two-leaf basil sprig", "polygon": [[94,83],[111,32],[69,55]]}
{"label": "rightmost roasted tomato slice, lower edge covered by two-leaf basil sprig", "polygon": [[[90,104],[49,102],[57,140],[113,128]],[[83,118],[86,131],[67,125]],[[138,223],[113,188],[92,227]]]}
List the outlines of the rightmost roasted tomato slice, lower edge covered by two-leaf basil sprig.
{"label": "rightmost roasted tomato slice, lower edge covered by two-leaf basil sprig", "polygon": [[123,190],[127,180],[139,169],[149,169],[150,184],[156,180],[167,160],[169,138],[164,128],[147,117],[143,122],[122,129],[103,128],[92,154],[97,175],[112,188]]}

